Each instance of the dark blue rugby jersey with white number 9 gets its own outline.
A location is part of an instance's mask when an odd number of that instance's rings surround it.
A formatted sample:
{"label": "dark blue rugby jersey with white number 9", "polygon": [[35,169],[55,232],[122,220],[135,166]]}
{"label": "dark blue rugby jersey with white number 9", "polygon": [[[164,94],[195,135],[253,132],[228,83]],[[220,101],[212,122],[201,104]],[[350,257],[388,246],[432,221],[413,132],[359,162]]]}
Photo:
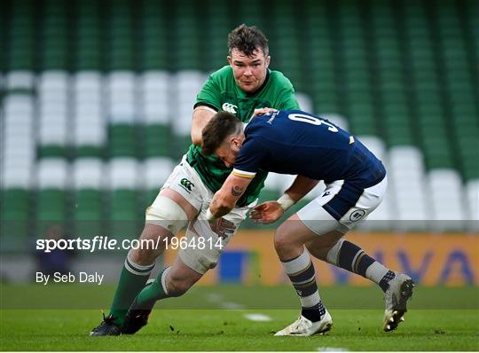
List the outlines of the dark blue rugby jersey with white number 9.
{"label": "dark blue rugby jersey with white number 9", "polygon": [[386,175],[381,161],[357,137],[332,122],[299,110],[279,111],[252,119],[234,164],[233,174],[254,177],[259,170],[346,180],[362,188]]}

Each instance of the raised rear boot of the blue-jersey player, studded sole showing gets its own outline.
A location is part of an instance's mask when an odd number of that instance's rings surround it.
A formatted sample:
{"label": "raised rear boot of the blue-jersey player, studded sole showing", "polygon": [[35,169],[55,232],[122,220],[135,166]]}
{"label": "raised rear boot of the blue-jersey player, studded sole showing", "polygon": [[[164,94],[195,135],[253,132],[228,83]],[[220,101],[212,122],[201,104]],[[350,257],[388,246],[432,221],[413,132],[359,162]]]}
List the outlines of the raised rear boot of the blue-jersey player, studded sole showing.
{"label": "raised rear boot of the blue-jersey player, studded sole showing", "polygon": [[389,332],[397,329],[404,321],[404,313],[407,311],[407,301],[412,297],[414,281],[403,273],[397,273],[396,277],[389,281],[389,288],[384,294],[386,310],[384,310],[384,331]]}

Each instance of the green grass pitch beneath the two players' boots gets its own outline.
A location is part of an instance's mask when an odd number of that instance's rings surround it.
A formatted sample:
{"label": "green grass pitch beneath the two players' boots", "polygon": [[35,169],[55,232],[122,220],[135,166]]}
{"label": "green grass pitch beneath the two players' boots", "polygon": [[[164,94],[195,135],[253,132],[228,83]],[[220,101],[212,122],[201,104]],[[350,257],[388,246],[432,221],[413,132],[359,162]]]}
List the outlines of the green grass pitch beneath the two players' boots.
{"label": "green grass pitch beneath the two players' boots", "polygon": [[[344,308],[342,299],[351,295],[362,302],[377,288],[324,288],[322,293],[333,316],[330,333],[313,337],[274,337],[273,333],[297,318],[297,309],[186,309],[195,308],[200,297],[216,298],[216,304],[230,303],[228,293],[242,294],[255,302],[255,295],[247,295],[251,288],[228,286],[198,288],[190,299],[181,298],[184,309],[168,309],[169,299],[155,308],[148,326],[132,336],[90,338],[90,329],[97,326],[99,310],[20,310],[0,311],[0,348],[2,350],[293,350],[317,351],[348,350],[479,350],[479,310],[476,287],[423,288],[412,301],[405,322],[392,333],[382,332],[382,310]],[[224,291],[222,292],[222,290]],[[234,290],[236,289],[236,290]],[[276,297],[294,298],[289,286],[256,288],[257,293],[276,294]],[[259,291],[259,292],[258,292]],[[263,292],[262,292],[263,291]],[[219,299],[218,292],[223,293]],[[292,295],[291,292],[293,292]],[[420,294],[420,293],[423,294]],[[424,309],[429,298],[443,302],[444,308]],[[450,292],[450,293],[449,293]],[[30,293],[31,294],[31,293]],[[216,295],[216,297],[214,296]],[[380,295],[381,296],[381,295]],[[334,298],[328,301],[327,298]],[[433,299],[434,298],[434,299]],[[439,298],[439,300],[438,300]],[[353,298],[354,299],[354,298]],[[456,309],[452,301],[459,303]],[[90,298],[91,301],[91,298]],[[188,302],[191,301],[191,302]],[[449,302],[448,302],[449,301]],[[328,302],[332,302],[331,305]],[[287,302],[289,307],[289,302]],[[381,300],[376,302],[382,306]],[[237,304],[240,305],[237,300]],[[350,305],[350,302],[347,302]],[[356,305],[357,307],[361,305]],[[433,305],[434,306],[434,305]],[[464,309],[466,307],[467,309]],[[457,309],[457,308],[463,309]],[[261,314],[268,321],[253,321],[248,314]]]}

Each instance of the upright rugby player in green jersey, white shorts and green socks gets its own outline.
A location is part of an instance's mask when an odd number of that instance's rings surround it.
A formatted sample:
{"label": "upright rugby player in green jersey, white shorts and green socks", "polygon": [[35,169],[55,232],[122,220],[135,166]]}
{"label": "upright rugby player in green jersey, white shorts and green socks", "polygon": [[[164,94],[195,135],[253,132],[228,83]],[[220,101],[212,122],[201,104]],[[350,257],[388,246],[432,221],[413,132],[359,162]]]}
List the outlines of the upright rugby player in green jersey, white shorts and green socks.
{"label": "upright rugby player in green jersey, white shorts and green socks", "polygon": [[[269,69],[268,40],[256,27],[241,25],[228,35],[228,63],[209,76],[197,96],[192,114],[192,145],[146,209],[145,228],[139,239],[153,239],[158,247],[131,249],[122,268],[110,313],[91,336],[136,333],[146,325],[154,303],[179,296],[216,266],[247,212],[255,206],[267,172],[257,173],[247,191],[227,216],[209,224],[209,202],[231,168],[216,156],[200,153],[201,132],[218,111],[235,114],[248,122],[264,107],[299,109],[291,82]],[[177,258],[148,281],[154,262],[177,232],[186,226],[185,241]],[[157,241],[158,240],[158,241]]]}

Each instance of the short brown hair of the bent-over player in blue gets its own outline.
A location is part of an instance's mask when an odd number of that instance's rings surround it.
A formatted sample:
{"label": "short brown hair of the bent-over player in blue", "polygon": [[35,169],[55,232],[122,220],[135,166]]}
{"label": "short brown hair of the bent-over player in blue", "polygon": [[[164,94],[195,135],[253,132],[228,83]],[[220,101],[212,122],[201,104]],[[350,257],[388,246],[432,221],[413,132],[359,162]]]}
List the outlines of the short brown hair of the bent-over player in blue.
{"label": "short brown hair of the bent-over player in blue", "polygon": [[201,153],[205,156],[214,154],[224,143],[226,137],[240,133],[243,123],[231,113],[220,111],[213,115],[213,118],[201,132],[203,143]]}

